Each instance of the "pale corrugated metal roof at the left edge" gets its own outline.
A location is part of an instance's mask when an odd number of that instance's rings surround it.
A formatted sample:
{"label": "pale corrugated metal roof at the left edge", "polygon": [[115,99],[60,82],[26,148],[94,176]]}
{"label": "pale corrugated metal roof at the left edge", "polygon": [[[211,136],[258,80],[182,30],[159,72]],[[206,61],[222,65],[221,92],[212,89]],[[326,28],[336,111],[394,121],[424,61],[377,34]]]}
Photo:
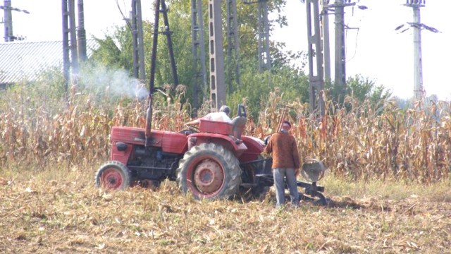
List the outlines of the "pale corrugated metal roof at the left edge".
{"label": "pale corrugated metal roof at the left edge", "polygon": [[[95,40],[86,43],[89,57],[98,44]],[[39,73],[55,67],[63,69],[61,41],[0,43],[0,84],[36,81]]]}

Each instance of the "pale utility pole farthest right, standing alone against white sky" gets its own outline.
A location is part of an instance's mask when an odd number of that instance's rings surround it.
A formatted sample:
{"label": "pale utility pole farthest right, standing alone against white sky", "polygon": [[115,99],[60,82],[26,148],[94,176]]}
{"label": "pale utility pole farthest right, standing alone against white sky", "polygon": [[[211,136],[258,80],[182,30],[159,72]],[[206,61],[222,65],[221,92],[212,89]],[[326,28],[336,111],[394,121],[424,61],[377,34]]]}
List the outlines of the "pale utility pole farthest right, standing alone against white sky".
{"label": "pale utility pole farthest right, standing alone against white sky", "polygon": [[423,87],[423,59],[421,56],[421,21],[420,8],[426,4],[425,0],[406,0],[405,6],[412,7],[414,22],[409,23],[414,28],[414,97],[416,100],[424,98]]}

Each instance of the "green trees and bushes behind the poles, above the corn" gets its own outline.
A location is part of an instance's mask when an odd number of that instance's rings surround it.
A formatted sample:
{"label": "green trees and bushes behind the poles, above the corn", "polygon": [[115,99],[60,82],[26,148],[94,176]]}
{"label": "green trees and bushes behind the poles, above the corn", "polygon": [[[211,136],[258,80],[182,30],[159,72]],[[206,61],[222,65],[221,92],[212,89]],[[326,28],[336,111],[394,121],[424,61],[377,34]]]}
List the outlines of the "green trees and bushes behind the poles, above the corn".
{"label": "green trees and bushes behind the poles, above the corn", "polygon": [[[287,25],[287,20],[283,16],[282,8],[285,6],[285,0],[268,2],[269,11],[276,13],[277,18],[271,23],[271,30],[274,25]],[[194,87],[202,87],[202,80],[197,77],[192,55],[192,35],[191,35],[191,6],[190,1],[171,0],[166,2],[168,6],[168,21],[171,30],[171,40],[175,63],[177,66],[178,80],[180,84],[185,85],[185,94],[183,102],[192,104],[194,99]],[[223,3],[223,9],[226,10],[226,3]],[[206,10],[208,1],[204,1],[204,46],[209,50],[208,43],[208,11]],[[240,85],[237,84],[230,72],[235,68],[237,59],[227,59],[225,54],[225,72],[226,86],[228,90],[227,103],[235,105],[245,102],[249,111],[257,114],[257,109],[261,107],[261,101],[273,90],[280,90],[284,99],[291,102],[309,101],[309,80],[303,73],[307,65],[307,54],[305,52],[290,52],[285,48],[285,44],[271,42],[271,71],[259,73],[258,71],[258,15],[257,4],[244,4],[237,1],[238,28],[240,34]],[[225,13],[225,12],[224,12]],[[171,71],[171,61],[168,54],[168,41],[166,35],[163,35],[163,15],[159,20],[159,39],[156,56],[156,87],[174,87],[173,73]],[[225,14],[224,14],[225,16]],[[228,40],[226,35],[226,18],[223,17],[223,40],[224,49],[227,49]],[[145,59],[145,68],[147,76],[150,72],[150,57],[152,49],[152,40],[154,36],[154,24],[144,22],[144,52],[147,52]],[[132,33],[130,28],[124,25],[117,28],[112,35],[106,36],[105,40],[99,40],[100,47],[94,52],[92,59],[101,62],[104,66],[114,66],[123,68],[132,73]],[[293,59],[296,59],[294,65]],[[207,70],[209,66],[208,52],[204,59]],[[231,63],[228,66],[228,63]],[[208,74],[206,74],[208,75]],[[144,80],[149,83],[149,80]],[[207,78],[209,83],[209,78]],[[364,78],[361,75],[355,75],[347,80],[345,94],[342,91],[344,87],[338,87],[332,83],[325,85],[326,94],[333,98],[333,101],[342,102],[345,96],[352,96],[360,102],[369,99],[372,103],[382,102],[390,97],[390,91],[383,85],[376,85],[373,80]],[[173,92],[171,92],[173,93]],[[172,95],[173,96],[173,95]],[[199,93],[199,104],[202,104],[202,97],[209,98],[209,87],[203,87]]]}

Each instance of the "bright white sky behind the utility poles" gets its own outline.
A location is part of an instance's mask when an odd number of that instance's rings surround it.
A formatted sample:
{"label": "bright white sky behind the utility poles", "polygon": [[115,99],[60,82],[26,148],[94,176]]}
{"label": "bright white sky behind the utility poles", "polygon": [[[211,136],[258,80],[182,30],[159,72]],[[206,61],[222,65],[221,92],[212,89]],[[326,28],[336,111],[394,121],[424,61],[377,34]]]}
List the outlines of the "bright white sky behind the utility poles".
{"label": "bright white sky behind the utility poles", "polygon": [[[118,0],[118,3],[128,16],[131,1]],[[153,19],[150,11],[152,3],[151,0],[142,1],[144,19]],[[367,6],[367,10],[345,8],[345,23],[350,28],[359,28],[347,31],[346,72],[348,77],[361,74],[371,78],[376,84],[390,88],[393,95],[408,98],[412,97],[414,87],[413,30],[402,34],[395,31],[398,25],[405,24],[407,27],[407,22],[412,22],[412,8],[403,6],[404,3],[405,0],[360,0],[357,5]],[[0,5],[3,5],[1,0]],[[11,5],[30,11],[30,14],[13,11],[14,35],[27,37],[27,41],[61,40],[61,0],[11,0]],[[102,37],[113,25],[123,24],[116,0],[85,0],[84,8],[88,37]],[[451,59],[449,11],[451,1],[443,0],[428,0],[426,7],[421,8],[421,23],[440,30],[440,33],[421,32],[424,89],[426,95],[435,94],[439,99],[451,99],[451,80],[447,73],[450,71],[447,61]],[[278,28],[270,40],[286,42],[292,50],[307,51],[305,4],[299,0],[288,0],[285,15],[288,16],[288,28]],[[0,18],[3,19],[3,11],[0,11]],[[3,30],[1,35],[4,35]],[[332,64],[333,36],[333,16],[330,16]]]}

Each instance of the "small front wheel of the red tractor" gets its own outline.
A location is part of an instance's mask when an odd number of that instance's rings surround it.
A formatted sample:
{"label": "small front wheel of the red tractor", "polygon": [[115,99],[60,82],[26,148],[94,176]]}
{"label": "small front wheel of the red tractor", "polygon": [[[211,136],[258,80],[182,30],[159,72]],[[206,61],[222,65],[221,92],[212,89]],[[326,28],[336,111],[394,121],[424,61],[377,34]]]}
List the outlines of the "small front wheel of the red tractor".
{"label": "small front wheel of the red tractor", "polygon": [[131,178],[128,167],[121,162],[106,162],[101,165],[96,175],[96,187],[123,190],[130,187]]}

